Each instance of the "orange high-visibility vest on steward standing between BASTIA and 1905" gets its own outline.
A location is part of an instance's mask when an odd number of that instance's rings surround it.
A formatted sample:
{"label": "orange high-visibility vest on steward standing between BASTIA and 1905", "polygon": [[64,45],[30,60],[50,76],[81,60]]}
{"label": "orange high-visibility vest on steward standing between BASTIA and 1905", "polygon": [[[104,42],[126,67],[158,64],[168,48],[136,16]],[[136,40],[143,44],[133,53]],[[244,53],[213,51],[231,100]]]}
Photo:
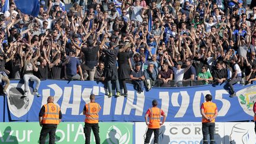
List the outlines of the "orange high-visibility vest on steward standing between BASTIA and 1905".
{"label": "orange high-visibility vest on steward standing between BASTIA and 1905", "polygon": [[149,116],[149,128],[150,129],[159,129],[160,128],[160,120],[161,120],[161,109],[158,107],[149,108],[150,116]]}

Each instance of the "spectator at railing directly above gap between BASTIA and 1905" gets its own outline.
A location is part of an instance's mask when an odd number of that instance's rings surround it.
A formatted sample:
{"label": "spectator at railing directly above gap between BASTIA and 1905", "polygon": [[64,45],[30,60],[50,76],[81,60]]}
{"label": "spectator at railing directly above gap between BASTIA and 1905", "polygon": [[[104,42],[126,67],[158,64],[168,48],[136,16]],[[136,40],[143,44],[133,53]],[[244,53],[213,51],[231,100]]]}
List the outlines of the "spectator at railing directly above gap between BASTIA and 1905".
{"label": "spectator at railing directly above gap between BASTIA and 1905", "polygon": [[148,90],[150,90],[153,87],[153,85],[155,85],[155,81],[157,78],[154,66],[155,65],[153,63],[150,63],[148,66],[148,69],[143,71],[143,74],[145,76],[146,88],[148,88]]}

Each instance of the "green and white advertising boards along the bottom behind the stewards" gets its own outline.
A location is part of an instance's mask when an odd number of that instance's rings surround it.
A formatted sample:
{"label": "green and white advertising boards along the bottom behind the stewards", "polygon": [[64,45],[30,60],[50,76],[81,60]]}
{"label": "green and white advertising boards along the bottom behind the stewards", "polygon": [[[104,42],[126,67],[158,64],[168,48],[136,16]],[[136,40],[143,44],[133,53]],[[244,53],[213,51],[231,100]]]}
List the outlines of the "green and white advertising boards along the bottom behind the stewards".
{"label": "green and white advertising boards along the bottom behind the stewards", "polygon": [[[103,144],[141,144],[147,130],[146,124],[142,122],[104,122],[99,125],[100,139]],[[218,144],[256,142],[254,123],[217,122],[215,125],[215,140]],[[82,122],[60,123],[56,131],[56,143],[84,143],[83,127]],[[39,143],[40,130],[41,127],[37,122],[0,123],[0,143]],[[153,143],[152,139],[150,143]],[[158,143],[201,144],[202,139],[200,122],[167,122],[159,130]],[[91,143],[95,143],[92,133]]]}

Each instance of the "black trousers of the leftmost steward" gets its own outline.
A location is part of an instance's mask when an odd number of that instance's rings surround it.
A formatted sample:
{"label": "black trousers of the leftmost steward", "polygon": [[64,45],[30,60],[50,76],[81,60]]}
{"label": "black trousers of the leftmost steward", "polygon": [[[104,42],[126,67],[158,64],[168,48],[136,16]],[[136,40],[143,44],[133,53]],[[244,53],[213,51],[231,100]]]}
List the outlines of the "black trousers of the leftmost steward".
{"label": "black trousers of the leftmost steward", "polygon": [[49,133],[49,144],[54,144],[56,129],[57,124],[43,124],[43,127],[40,132],[39,143],[44,144],[46,141],[46,136]]}

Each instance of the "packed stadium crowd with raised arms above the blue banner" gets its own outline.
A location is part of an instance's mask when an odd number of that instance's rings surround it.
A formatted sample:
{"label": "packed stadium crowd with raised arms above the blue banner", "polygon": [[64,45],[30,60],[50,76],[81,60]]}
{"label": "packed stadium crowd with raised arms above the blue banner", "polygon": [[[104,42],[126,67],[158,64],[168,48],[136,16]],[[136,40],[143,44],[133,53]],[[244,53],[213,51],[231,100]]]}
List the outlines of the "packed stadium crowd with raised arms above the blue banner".
{"label": "packed stadium crowd with raised arms above the blue banner", "polygon": [[[81,79],[104,82],[116,95],[126,79],[134,88],[200,80],[226,83],[256,79],[256,7],[242,0],[40,1],[37,17],[9,1],[0,10],[0,72],[9,79]],[[252,12],[248,12],[252,11]],[[8,75],[8,77],[7,77]],[[8,79],[9,78],[9,79]]]}

